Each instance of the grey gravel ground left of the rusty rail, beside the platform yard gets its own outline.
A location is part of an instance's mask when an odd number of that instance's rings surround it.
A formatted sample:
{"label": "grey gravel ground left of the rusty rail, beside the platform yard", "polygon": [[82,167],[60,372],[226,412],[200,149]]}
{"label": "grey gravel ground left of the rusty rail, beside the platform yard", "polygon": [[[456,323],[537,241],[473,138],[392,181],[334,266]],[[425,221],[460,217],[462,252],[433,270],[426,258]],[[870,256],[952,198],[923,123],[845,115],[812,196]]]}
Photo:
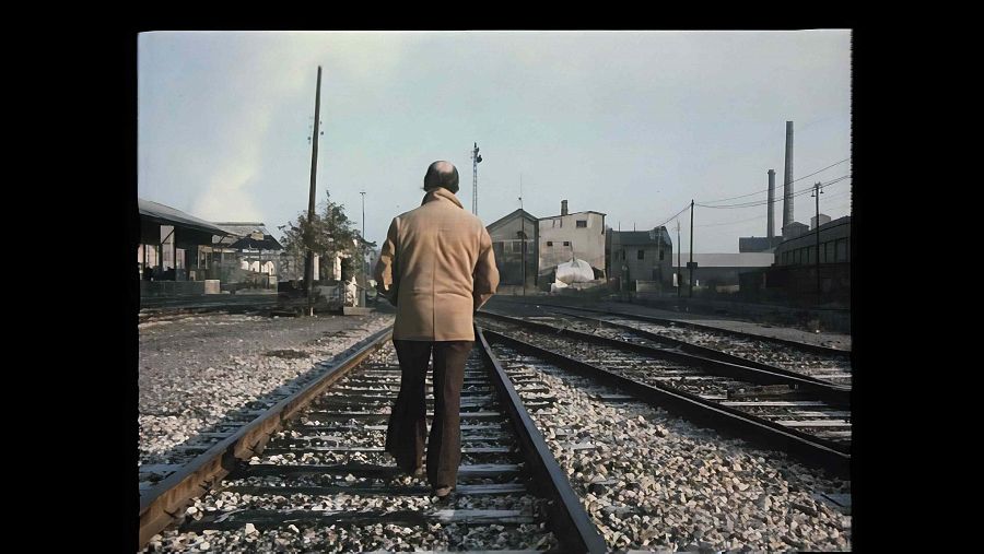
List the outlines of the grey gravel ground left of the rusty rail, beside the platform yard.
{"label": "grey gravel ground left of the rusty rail, beside the platform yard", "polygon": [[270,318],[206,314],[140,325],[139,463],[181,464],[196,436],[393,323],[388,314]]}

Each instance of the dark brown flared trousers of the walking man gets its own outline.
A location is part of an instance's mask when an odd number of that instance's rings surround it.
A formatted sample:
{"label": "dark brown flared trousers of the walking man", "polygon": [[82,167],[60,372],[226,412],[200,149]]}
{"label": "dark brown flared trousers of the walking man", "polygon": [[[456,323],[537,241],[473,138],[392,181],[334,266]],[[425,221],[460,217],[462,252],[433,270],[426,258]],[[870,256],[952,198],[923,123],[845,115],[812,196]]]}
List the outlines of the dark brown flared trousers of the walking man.
{"label": "dark brown flared trousers of the walking man", "polygon": [[400,361],[400,393],[386,429],[386,451],[412,472],[421,464],[427,435],[424,388],[434,354],[434,420],[427,438],[427,482],[455,486],[461,462],[461,384],[475,341],[394,340]]}

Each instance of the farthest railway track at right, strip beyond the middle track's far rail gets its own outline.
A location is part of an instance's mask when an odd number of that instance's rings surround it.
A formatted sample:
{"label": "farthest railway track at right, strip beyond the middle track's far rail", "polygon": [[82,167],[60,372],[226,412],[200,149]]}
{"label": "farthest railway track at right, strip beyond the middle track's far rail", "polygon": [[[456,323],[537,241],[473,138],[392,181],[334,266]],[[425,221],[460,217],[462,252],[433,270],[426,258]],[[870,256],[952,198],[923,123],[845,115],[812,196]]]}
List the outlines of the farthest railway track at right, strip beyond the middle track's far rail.
{"label": "farthest railway track at right, strip beyond the middle track's far rail", "polygon": [[[544,314],[567,315],[585,320],[602,321],[625,330],[634,330],[653,340],[677,343],[693,349],[717,351],[721,359],[733,358],[753,367],[792,372],[836,385],[851,385],[851,352],[817,344],[789,341],[760,334],[722,329],[693,321],[600,310],[574,306],[538,306]],[[743,361],[743,362],[739,362]]]}

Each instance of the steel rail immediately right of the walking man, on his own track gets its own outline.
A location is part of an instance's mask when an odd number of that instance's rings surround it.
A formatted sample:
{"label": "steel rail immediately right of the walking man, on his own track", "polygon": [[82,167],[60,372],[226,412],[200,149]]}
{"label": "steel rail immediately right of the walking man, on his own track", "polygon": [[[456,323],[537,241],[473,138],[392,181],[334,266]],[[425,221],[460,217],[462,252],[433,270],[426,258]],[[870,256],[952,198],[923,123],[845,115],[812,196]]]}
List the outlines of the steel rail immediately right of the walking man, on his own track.
{"label": "steel rail immediately right of the walking man, on his own track", "polygon": [[536,478],[532,484],[540,494],[553,500],[548,505],[548,511],[553,534],[563,546],[562,552],[608,552],[605,539],[582,506],[566,473],[557,463],[547,440],[529,416],[499,358],[489,347],[484,332],[477,325],[475,335],[503,408],[516,429],[524,458]]}

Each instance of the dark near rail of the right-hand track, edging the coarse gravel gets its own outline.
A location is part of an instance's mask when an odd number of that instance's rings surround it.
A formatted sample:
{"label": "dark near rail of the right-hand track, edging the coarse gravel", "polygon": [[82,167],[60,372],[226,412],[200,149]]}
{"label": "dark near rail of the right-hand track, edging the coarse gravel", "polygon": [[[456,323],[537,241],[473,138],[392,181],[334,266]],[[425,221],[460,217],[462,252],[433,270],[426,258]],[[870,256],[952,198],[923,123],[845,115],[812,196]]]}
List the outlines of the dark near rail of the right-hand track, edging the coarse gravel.
{"label": "dark near rail of the right-hand track, edging the coarse gravel", "polygon": [[483,341],[502,343],[535,357],[570,369],[588,378],[600,380],[620,389],[651,405],[675,411],[688,419],[707,424],[719,432],[751,440],[761,446],[780,449],[795,456],[805,463],[822,468],[839,476],[851,472],[851,455],[841,451],[839,445],[828,444],[805,433],[783,428],[782,425],[739,410],[704,400],[696,394],[683,392],[672,387],[657,384],[646,385],[623,377],[613,372],[563,354],[532,345],[528,342],[492,331],[483,330]]}

